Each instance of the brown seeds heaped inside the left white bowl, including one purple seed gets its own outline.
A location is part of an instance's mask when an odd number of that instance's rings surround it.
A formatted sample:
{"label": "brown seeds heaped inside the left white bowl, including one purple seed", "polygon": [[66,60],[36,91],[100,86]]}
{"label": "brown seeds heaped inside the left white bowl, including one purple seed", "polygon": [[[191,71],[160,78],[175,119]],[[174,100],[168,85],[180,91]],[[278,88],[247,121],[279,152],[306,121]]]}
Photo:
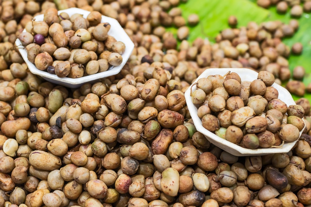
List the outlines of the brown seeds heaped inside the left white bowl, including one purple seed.
{"label": "brown seeds heaped inside the left white bowl, including one purple seed", "polygon": [[[68,18],[63,18],[63,16]],[[26,46],[28,60],[39,70],[58,77],[80,78],[104,72],[122,63],[125,44],[108,34],[109,23],[100,23],[101,14],[91,11],[57,16],[47,9],[44,21],[31,21],[19,35]]]}

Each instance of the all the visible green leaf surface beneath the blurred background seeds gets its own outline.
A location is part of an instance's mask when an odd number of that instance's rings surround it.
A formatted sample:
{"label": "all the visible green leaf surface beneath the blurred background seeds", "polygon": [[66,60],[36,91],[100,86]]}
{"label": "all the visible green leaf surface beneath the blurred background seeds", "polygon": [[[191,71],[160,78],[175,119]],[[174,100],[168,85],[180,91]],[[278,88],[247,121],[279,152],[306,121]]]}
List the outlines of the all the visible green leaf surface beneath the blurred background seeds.
{"label": "all the visible green leaf surface beneath the blurred background seeds", "polygon": [[[276,12],[275,6],[269,9],[258,7],[256,0],[189,0],[187,3],[180,4],[179,8],[182,9],[182,15],[186,20],[190,14],[197,14],[200,17],[199,24],[190,27],[188,37],[190,42],[197,37],[208,38],[211,42],[214,42],[214,38],[221,30],[229,28],[227,20],[230,15],[237,17],[238,27],[246,26],[250,21],[261,23],[269,20],[281,20],[288,23],[291,19],[289,12],[282,15]],[[309,14],[304,13],[298,21],[298,32],[292,38],[284,39],[283,42],[290,47],[296,42],[303,44],[302,55],[291,55],[289,63],[291,71],[298,65],[306,69],[303,82],[307,86],[311,83],[311,68],[309,67],[311,58],[311,20]],[[177,32],[174,27],[167,28],[167,30],[173,34]],[[293,97],[295,100],[299,98],[295,95]],[[311,101],[311,94],[305,94],[304,97]]]}

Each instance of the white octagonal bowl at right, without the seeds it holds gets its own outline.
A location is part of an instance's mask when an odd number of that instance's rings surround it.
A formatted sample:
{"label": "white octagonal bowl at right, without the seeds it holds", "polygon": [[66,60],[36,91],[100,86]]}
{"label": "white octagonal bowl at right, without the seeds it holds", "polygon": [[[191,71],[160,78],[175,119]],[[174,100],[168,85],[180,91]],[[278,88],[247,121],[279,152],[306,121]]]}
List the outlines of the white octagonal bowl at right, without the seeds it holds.
{"label": "white octagonal bowl at right, without the seeds it holds", "polygon": [[[210,68],[205,70],[194,82],[197,82],[200,78],[207,78],[209,75],[225,75],[228,71],[235,72],[239,74],[242,81],[253,81],[257,79],[258,73],[256,71],[246,69],[246,68]],[[295,101],[293,100],[292,96],[290,95],[290,92],[288,92],[285,88],[282,86],[273,83],[272,85],[274,88],[276,88],[279,92],[279,99],[284,101],[287,106],[295,105]],[[192,90],[194,91],[196,87],[192,87]],[[295,142],[285,142],[285,144],[280,148],[267,148],[267,149],[246,149],[239,145],[236,145],[232,142],[229,142],[225,139],[222,139],[218,137],[216,134],[208,131],[206,128],[202,126],[201,119],[197,116],[197,108],[194,106],[191,96],[190,96],[190,90],[189,87],[188,90],[185,92],[185,98],[187,102],[187,106],[191,115],[191,118],[193,119],[193,123],[195,127],[197,128],[197,131],[204,134],[204,136],[207,138],[208,141],[213,143],[214,145],[218,146],[219,148],[229,152],[232,155],[236,156],[251,156],[251,155],[267,155],[272,153],[287,153],[289,152],[293,146],[295,145]],[[304,129],[300,131],[301,133]]]}

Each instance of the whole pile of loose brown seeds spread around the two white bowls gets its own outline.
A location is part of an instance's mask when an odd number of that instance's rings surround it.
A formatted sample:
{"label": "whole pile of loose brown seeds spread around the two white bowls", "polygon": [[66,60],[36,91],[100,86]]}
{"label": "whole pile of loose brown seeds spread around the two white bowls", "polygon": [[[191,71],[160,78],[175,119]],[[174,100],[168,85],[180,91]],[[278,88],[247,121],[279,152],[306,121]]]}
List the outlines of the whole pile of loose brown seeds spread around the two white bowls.
{"label": "whole pile of loose brown seeds spread around the two white bowls", "polygon": [[[311,205],[306,98],[296,101],[306,120],[297,145],[248,157],[222,151],[197,132],[184,98],[208,67],[267,70],[277,83],[290,79],[291,49],[281,38],[298,29],[297,21],[251,22],[222,31],[215,44],[197,38],[177,49],[165,26],[187,38],[178,0],[54,2],[1,2],[1,207]],[[119,74],[70,89],[29,72],[13,44],[33,16],[56,6],[120,22],[135,48]],[[188,17],[188,25],[197,21]],[[294,72],[295,79],[304,76],[302,69]]]}

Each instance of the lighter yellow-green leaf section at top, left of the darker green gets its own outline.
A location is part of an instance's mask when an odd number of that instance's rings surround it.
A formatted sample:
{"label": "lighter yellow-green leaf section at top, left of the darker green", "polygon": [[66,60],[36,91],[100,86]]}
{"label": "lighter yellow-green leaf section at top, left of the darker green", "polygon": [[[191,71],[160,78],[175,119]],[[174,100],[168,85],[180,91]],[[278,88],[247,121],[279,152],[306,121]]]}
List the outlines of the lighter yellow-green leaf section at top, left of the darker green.
{"label": "lighter yellow-green leaf section at top, left of the darker green", "polygon": [[[228,28],[227,22],[231,15],[237,17],[238,26],[247,25],[249,21],[262,22],[269,15],[269,11],[248,0],[189,0],[187,3],[180,4],[179,8],[182,9],[182,16],[186,20],[190,14],[197,14],[200,17],[199,24],[190,27],[188,38],[190,42],[197,37],[209,38],[213,42],[221,30]],[[174,27],[167,30],[173,34],[177,32]]]}

